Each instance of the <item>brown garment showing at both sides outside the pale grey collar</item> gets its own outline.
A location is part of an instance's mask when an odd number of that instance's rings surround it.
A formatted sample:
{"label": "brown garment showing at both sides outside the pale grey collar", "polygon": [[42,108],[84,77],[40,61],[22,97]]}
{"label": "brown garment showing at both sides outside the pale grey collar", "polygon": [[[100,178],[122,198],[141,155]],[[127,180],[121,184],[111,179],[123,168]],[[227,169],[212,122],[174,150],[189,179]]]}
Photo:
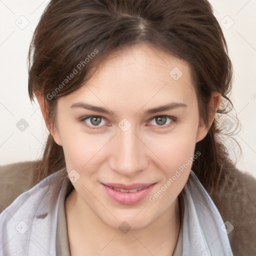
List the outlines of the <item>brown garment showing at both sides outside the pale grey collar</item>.
{"label": "brown garment showing at both sides outside the pale grey collar", "polygon": [[[33,163],[26,161],[0,166],[0,212],[19,194],[32,187]],[[232,166],[232,172],[224,180],[222,188],[208,193],[223,221],[229,221],[234,226],[228,233],[234,256],[255,256],[256,179]]]}

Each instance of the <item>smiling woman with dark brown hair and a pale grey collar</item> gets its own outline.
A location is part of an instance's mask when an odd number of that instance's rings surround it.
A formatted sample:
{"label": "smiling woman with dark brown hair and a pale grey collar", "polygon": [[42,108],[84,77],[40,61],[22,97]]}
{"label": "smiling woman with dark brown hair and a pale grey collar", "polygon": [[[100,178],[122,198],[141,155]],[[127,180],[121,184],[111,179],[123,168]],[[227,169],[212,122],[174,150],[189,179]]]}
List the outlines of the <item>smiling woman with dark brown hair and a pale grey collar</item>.
{"label": "smiling woman with dark brown hair and a pale grey collar", "polygon": [[212,201],[235,167],[206,0],[51,0],[29,60],[49,136],[36,185],[0,214],[3,255],[240,255]]}

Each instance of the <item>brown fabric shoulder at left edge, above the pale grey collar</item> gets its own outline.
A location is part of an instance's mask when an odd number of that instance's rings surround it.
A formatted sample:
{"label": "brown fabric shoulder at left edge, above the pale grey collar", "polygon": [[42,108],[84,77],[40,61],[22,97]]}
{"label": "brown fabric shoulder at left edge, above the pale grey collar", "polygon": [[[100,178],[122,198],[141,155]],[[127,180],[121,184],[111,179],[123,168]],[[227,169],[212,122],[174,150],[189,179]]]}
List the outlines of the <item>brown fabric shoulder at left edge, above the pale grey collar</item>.
{"label": "brown fabric shoulder at left edge, above the pale grey collar", "polygon": [[0,165],[0,212],[33,184],[35,161]]}

